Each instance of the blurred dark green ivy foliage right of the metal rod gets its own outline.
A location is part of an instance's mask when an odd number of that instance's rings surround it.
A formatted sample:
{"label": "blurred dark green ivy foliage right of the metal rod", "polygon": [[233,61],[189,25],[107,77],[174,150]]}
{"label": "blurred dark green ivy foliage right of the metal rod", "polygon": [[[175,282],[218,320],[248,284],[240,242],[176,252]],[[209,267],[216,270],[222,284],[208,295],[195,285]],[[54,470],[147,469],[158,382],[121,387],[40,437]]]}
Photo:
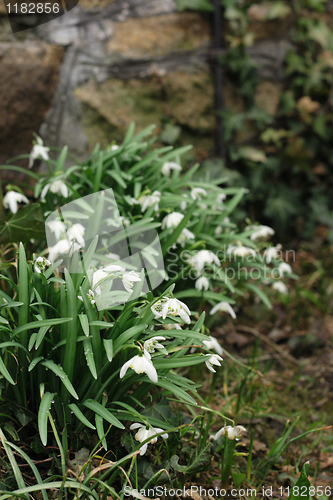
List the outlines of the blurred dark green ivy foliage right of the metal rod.
{"label": "blurred dark green ivy foliage right of the metal rod", "polygon": [[[206,0],[177,0],[180,10],[213,12]],[[264,22],[285,19],[293,49],[284,60],[283,91],[275,116],[257,107],[260,78],[248,55],[249,9],[266,9]],[[272,226],[280,241],[312,239],[317,231],[333,242],[333,31],[326,0],[222,0],[225,78],[242,97],[245,111],[223,112],[230,183],[250,190],[244,208]],[[265,10],[262,10],[265,12]],[[237,136],[245,139],[237,144]],[[212,165],[209,164],[211,168]]]}

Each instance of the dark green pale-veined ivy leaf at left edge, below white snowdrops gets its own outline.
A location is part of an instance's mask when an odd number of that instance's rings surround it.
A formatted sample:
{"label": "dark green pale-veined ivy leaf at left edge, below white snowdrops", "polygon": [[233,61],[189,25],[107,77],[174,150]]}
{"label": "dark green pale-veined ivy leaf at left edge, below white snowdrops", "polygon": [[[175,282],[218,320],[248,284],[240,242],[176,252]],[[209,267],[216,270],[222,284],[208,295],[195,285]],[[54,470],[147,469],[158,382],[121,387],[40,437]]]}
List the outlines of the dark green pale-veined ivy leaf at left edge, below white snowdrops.
{"label": "dark green pale-veined ivy leaf at left edge, below white snowdrops", "polygon": [[45,224],[38,203],[25,205],[8,221],[0,220],[0,243],[45,238]]}

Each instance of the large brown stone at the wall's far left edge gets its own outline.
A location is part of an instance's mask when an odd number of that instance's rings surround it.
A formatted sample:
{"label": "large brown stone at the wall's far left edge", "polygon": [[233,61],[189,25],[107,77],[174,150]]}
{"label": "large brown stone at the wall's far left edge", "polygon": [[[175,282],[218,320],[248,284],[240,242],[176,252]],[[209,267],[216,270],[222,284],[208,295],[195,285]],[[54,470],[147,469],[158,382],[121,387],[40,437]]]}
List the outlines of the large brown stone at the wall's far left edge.
{"label": "large brown stone at the wall's far left edge", "polygon": [[[1,164],[30,152],[51,107],[62,57],[62,48],[44,42],[0,43]],[[1,178],[17,180],[17,174],[2,171]]]}

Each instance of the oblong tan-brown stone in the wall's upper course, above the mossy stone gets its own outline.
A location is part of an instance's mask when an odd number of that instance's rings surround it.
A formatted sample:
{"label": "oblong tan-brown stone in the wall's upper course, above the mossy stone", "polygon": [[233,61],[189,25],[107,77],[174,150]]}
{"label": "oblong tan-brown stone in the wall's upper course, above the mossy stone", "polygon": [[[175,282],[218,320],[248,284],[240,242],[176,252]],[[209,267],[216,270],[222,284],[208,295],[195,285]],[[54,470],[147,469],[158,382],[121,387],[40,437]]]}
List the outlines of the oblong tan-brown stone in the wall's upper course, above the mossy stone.
{"label": "oblong tan-brown stone in the wall's upper course, above the mossy stone", "polygon": [[208,47],[210,42],[209,23],[196,12],[184,12],[116,23],[106,51],[122,59],[146,60]]}

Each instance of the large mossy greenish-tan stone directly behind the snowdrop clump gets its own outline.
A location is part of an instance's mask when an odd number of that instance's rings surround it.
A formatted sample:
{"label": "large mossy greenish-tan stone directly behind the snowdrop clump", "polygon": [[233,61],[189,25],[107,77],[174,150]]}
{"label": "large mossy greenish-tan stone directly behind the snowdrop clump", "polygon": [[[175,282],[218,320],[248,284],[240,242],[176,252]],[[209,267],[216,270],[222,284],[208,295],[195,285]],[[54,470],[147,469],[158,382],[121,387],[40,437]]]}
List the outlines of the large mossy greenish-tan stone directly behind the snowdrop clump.
{"label": "large mossy greenish-tan stone directly behind the snowdrop clump", "polygon": [[81,103],[93,109],[122,135],[135,121],[143,128],[158,124],[163,114],[198,133],[214,130],[214,87],[207,72],[174,71],[163,77],[119,80],[101,85],[93,79],[75,90]]}

